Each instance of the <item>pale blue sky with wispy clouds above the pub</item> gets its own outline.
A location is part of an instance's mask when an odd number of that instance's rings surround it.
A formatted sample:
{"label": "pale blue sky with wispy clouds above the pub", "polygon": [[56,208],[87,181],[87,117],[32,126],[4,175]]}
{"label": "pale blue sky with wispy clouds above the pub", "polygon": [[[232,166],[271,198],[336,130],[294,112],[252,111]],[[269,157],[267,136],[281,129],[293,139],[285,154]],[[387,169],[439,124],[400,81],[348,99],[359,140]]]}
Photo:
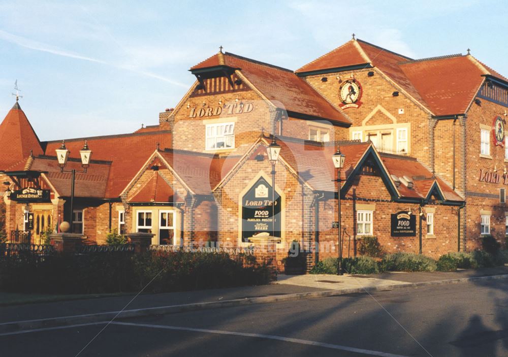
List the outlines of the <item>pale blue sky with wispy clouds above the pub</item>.
{"label": "pale blue sky with wispy clouds above the pub", "polygon": [[[290,69],[358,38],[413,58],[471,54],[508,76],[505,1],[0,1],[0,117],[41,140],[156,124],[226,51]],[[443,83],[446,85],[446,83]]]}

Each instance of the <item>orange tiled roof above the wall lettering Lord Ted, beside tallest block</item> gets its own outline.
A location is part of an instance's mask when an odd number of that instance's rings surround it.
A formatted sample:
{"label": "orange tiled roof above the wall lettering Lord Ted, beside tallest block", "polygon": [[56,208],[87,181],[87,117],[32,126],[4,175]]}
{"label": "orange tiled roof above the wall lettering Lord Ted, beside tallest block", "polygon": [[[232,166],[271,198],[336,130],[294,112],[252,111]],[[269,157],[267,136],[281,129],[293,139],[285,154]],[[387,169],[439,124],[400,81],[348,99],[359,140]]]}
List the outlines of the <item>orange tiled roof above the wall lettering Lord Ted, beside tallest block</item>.
{"label": "orange tiled roof above the wall lettering Lord Ted, beside tallest block", "polygon": [[217,53],[191,71],[225,66],[238,70],[275,107],[349,125],[351,121],[293,71],[233,53]]}

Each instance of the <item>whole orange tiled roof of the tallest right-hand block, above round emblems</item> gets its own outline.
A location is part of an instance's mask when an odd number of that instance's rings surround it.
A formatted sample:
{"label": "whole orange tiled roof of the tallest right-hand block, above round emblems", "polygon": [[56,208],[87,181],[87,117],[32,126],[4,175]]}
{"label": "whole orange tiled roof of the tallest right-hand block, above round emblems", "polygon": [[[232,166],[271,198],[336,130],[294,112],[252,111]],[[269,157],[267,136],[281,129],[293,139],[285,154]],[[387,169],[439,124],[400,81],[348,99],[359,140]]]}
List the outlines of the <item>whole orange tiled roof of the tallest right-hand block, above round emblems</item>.
{"label": "whole orange tiled roof of the tallest right-hand block, above round emblems", "polygon": [[340,71],[355,66],[374,67],[436,116],[464,114],[485,76],[508,79],[471,55],[413,60],[362,40],[344,45],[306,64],[296,72]]}

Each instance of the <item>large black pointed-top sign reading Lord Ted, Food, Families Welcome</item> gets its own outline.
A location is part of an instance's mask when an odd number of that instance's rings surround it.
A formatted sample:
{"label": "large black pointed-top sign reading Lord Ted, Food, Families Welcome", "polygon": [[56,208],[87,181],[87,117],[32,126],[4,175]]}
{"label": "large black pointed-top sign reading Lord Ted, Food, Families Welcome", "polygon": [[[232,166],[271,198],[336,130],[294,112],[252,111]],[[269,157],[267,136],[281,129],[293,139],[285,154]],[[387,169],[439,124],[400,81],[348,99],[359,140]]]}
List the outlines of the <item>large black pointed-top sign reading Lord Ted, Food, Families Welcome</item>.
{"label": "large black pointed-top sign reading Lord Ted, Food, Families Welcome", "polygon": [[257,235],[280,237],[280,196],[277,192],[274,213],[275,217],[272,217],[272,187],[261,177],[242,198],[242,242]]}

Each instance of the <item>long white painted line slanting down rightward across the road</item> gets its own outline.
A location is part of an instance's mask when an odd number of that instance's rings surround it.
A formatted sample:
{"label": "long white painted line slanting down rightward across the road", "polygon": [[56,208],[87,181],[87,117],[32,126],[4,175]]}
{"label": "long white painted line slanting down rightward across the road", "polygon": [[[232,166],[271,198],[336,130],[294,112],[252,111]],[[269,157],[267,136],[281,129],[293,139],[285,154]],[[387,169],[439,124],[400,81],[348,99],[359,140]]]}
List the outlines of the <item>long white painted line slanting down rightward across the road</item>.
{"label": "long white painted line slanting down rightward across the road", "polygon": [[265,339],[270,339],[270,340],[278,340],[278,341],[284,341],[284,342],[300,343],[300,344],[303,344],[303,345],[310,345],[310,346],[316,346],[316,347],[325,347],[325,348],[338,349],[338,350],[348,351],[348,352],[363,353],[363,354],[369,354],[369,355],[373,355],[373,356],[407,357],[407,356],[403,356],[403,355],[400,355],[400,354],[393,354],[393,353],[387,353],[387,352],[381,352],[381,351],[373,351],[373,350],[363,349],[363,348],[355,348],[355,347],[334,345],[334,344],[331,344],[331,343],[324,343],[324,342],[317,342],[317,341],[301,340],[301,339],[297,339],[297,338],[290,338],[290,337],[283,337],[283,336],[263,335],[263,334],[251,334],[251,333],[246,333],[246,332],[233,332],[233,331],[194,329],[194,328],[189,328],[189,327],[154,325],[154,324],[148,324],[148,323],[133,323],[133,322],[113,321],[113,322],[111,322],[111,324],[122,325],[122,326],[147,327],[147,328],[152,328],[152,329],[192,331],[192,332],[204,332],[204,333],[209,333],[209,334],[219,334],[219,335],[234,335],[234,336],[244,336],[244,337],[265,338]]}

